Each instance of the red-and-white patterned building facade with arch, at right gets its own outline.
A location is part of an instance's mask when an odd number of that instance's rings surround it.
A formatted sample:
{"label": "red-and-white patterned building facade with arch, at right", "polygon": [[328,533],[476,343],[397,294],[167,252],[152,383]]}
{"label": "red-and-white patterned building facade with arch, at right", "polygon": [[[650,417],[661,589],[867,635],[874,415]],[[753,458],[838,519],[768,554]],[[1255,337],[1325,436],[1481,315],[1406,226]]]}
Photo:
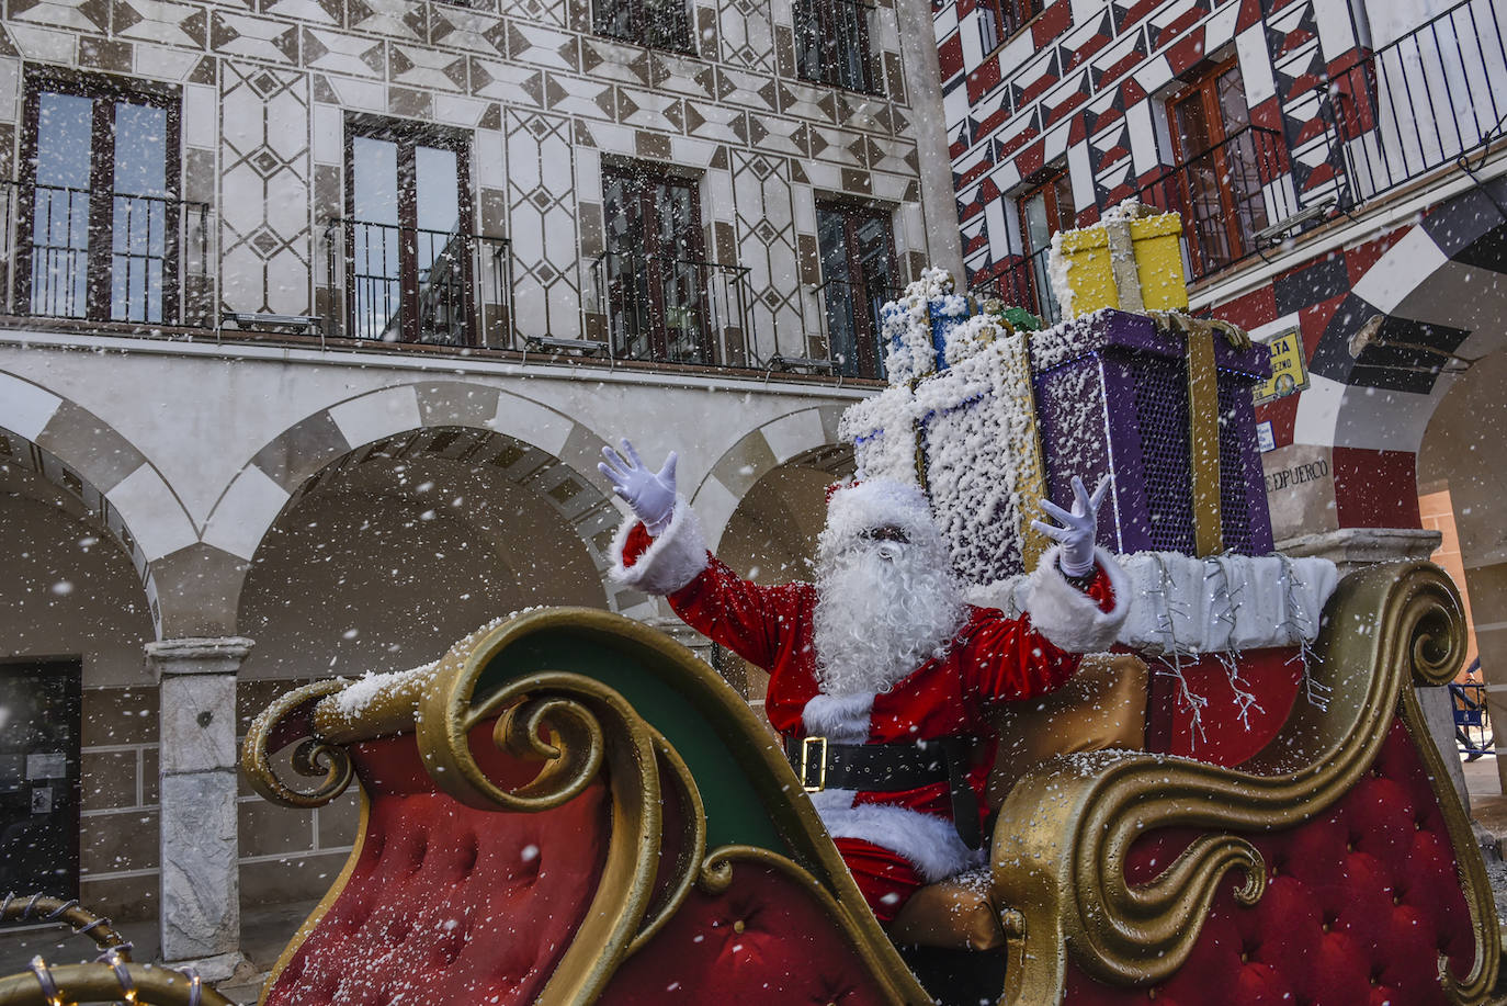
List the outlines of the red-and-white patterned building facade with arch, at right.
{"label": "red-and-white patterned building facade with arch, at right", "polygon": [[1447,490],[1481,668],[1507,685],[1507,5],[933,15],[971,285],[1052,320],[1055,232],[1127,199],[1178,211],[1192,309],[1273,348],[1257,421],[1278,546],[1427,557],[1420,495]]}

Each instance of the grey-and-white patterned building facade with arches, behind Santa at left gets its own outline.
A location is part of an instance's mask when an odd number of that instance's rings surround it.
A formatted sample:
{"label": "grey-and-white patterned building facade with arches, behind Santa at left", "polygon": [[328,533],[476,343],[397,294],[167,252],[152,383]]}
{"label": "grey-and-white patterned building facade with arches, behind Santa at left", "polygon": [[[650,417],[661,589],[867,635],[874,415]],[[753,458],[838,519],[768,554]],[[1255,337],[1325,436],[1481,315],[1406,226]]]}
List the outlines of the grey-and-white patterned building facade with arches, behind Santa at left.
{"label": "grey-and-white patterned building facade with arches, behind Santa at left", "polygon": [[[18,0],[0,33],[0,887],[238,961],[354,798],[289,686],[607,578],[622,434],[802,572],[874,309],[961,270],[918,0]],[[23,728],[24,727],[24,728]]]}

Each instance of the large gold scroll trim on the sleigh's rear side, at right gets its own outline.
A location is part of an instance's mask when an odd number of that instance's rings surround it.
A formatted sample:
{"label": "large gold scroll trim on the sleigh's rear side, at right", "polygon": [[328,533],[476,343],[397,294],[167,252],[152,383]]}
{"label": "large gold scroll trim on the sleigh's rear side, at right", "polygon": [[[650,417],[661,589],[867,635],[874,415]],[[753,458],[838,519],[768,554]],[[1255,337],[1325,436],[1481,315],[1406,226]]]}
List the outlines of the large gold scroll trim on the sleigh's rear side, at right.
{"label": "large gold scroll trim on the sleigh's rear side, at right", "polygon": [[[1010,793],[995,833],[995,882],[1017,909],[1005,1001],[1058,1001],[1068,961],[1115,985],[1154,985],[1188,961],[1219,881],[1243,876],[1255,903],[1266,867],[1243,834],[1323,813],[1374,763],[1402,715],[1436,780],[1447,780],[1412,683],[1453,677],[1463,653],[1460,603],[1429,563],[1373,567],[1341,581],[1310,667],[1326,709],[1299,700],[1266,751],[1240,769],[1138,753],[1062,756]],[[1484,867],[1465,811],[1436,789],[1477,932],[1475,964],[1445,974],[1451,1001],[1484,1001],[1501,955]],[[1145,884],[1126,878],[1133,843],[1157,830],[1209,831]],[[1483,934],[1490,934],[1483,938]]]}

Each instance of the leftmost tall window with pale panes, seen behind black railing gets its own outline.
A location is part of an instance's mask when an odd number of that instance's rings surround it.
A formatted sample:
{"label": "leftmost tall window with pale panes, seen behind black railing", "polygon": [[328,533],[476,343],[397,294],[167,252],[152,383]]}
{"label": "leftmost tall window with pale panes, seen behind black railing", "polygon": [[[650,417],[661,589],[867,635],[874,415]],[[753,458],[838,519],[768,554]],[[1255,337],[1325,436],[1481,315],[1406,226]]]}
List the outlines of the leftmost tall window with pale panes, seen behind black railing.
{"label": "leftmost tall window with pale panes, seen behind black railing", "polygon": [[50,71],[27,83],[17,192],[21,314],[176,323],[179,228],[206,207],[178,196],[176,89]]}

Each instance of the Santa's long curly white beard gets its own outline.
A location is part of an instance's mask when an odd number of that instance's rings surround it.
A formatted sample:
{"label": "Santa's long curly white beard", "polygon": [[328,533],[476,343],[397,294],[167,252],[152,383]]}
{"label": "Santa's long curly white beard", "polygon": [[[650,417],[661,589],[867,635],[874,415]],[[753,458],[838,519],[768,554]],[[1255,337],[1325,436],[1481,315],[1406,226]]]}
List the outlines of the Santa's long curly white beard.
{"label": "Santa's long curly white beard", "polygon": [[940,656],[963,618],[963,596],[942,549],[860,541],[823,557],[812,624],[821,691],[889,691]]}

